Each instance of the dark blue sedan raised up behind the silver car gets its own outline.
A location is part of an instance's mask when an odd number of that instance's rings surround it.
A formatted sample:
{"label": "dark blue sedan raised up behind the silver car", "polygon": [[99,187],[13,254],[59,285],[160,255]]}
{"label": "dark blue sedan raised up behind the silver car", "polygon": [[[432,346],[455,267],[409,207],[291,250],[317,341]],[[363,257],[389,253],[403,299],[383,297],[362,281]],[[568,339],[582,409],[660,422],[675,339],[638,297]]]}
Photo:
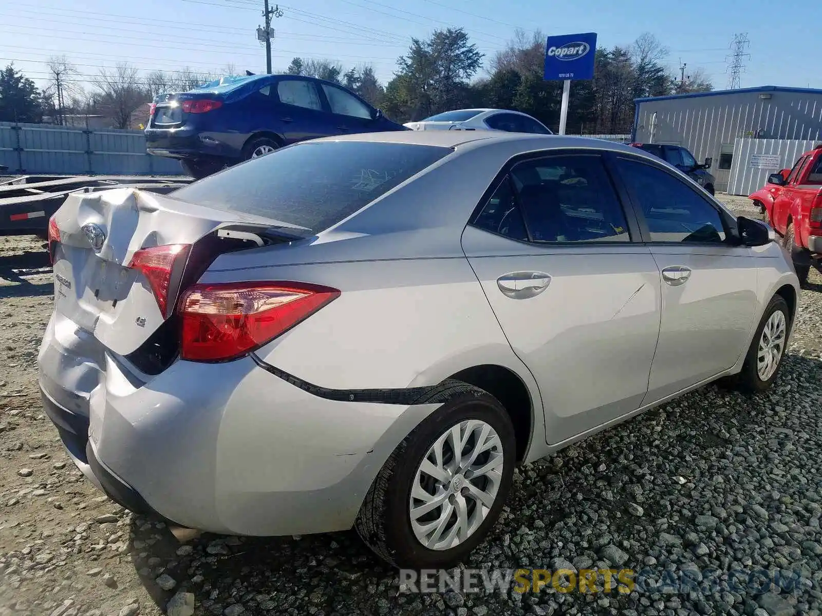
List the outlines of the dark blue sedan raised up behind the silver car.
{"label": "dark blue sedan raised up behind the silver car", "polygon": [[298,141],[405,130],[330,81],[252,75],[157,96],[145,140],[149,154],[179,159],[199,179]]}

